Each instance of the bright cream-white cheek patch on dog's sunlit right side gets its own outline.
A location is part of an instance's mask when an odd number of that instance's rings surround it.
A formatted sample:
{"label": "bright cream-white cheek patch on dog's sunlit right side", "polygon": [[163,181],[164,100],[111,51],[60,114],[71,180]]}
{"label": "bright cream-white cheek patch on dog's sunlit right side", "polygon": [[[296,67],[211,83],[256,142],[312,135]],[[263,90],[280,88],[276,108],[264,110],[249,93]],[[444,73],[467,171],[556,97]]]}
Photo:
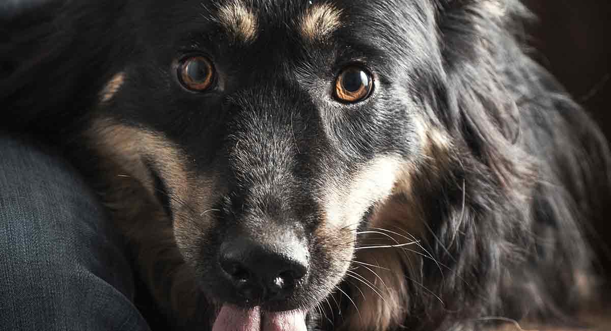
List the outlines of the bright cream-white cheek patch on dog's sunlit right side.
{"label": "bright cream-white cheek patch on dog's sunlit right side", "polygon": [[310,286],[319,299],[349,274],[360,222],[372,206],[393,194],[404,166],[398,159],[381,157],[344,178],[320,181],[325,183],[320,187],[323,216],[313,232]]}

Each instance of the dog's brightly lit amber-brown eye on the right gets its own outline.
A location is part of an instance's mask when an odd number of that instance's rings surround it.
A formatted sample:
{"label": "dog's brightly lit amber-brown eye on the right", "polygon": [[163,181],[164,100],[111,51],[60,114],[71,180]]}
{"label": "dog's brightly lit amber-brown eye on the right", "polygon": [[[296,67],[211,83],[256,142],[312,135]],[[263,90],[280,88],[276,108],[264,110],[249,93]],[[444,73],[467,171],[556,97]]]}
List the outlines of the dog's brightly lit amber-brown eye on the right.
{"label": "dog's brightly lit amber-brown eye on the right", "polygon": [[340,101],[355,103],[364,100],[373,89],[371,76],[358,67],[348,67],[335,81],[335,96]]}

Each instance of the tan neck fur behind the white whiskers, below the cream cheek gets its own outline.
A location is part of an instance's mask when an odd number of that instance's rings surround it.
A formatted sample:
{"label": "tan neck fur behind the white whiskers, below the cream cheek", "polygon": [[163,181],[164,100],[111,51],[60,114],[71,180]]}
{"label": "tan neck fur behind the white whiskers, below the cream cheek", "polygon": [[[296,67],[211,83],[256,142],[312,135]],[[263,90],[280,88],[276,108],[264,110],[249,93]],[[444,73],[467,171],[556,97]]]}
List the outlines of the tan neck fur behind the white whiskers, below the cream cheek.
{"label": "tan neck fur behind the white whiskers, below the cream cheek", "polygon": [[353,291],[358,294],[353,300],[359,307],[360,315],[356,310],[352,311],[346,318],[343,330],[394,329],[406,316],[409,283],[403,266],[412,268],[419,263],[419,256],[412,251],[420,250],[419,240],[423,238],[425,227],[422,209],[412,193],[411,176],[416,170],[409,164],[400,165],[395,170],[391,194],[376,205],[370,218],[370,228],[362,231],[358,237],[360,247],[398,247],[356,251],[352,267],[356,268],[356,277],[367,280],[368,285],[352,282],[358,288]]}

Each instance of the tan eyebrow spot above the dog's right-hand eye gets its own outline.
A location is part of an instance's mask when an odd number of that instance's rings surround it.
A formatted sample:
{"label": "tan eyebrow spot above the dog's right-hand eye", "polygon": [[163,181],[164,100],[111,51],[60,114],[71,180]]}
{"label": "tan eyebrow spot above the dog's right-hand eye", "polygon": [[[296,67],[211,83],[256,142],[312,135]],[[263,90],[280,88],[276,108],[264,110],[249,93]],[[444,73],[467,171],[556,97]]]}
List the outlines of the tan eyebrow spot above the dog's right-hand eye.
{"label": "tan eyebrow spot above the dog's right-hand eye", "polygon": [[310,42],[324,41],[342,26],[342,10],[331,4],[315,4],[301,19],[301,35]]}

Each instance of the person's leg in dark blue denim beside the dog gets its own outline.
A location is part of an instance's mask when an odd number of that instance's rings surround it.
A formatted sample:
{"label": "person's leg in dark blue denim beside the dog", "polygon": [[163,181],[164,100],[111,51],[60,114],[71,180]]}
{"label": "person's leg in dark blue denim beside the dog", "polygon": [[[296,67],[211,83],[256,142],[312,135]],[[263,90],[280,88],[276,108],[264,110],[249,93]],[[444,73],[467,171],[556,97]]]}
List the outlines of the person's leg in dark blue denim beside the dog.
{"label": "person's leg in dark blue denim beside the dog", "polygon": [[0,134],[0,330],[148,330],[104,208],[66,162]]}

